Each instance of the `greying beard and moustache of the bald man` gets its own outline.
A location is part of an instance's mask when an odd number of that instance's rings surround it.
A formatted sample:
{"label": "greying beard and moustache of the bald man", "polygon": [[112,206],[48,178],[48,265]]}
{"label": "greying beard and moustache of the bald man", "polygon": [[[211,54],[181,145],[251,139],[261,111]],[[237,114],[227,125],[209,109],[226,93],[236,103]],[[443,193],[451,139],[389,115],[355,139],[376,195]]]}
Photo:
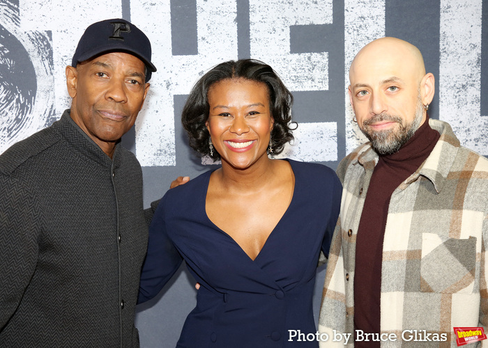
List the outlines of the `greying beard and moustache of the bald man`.
{"label": "greying beard and moustache of the bald man", "polygon": [[[417,109],[415,109],[415,118],[411,123],[405,124],[404,120],[399,116],[388,115],[388,113],[380,113],[363,122],[363,133],[371,141],[372,146],[380,155],[391,155],[400,150],[402,146],[409,141],[415,134],[415,131],[420,127],[423,116],[423,105],[420,95],[418,97]],[[398,123],[398,129],[386,129],[381,131],[373,131],[369,125],[375,122],[389,120]]]}

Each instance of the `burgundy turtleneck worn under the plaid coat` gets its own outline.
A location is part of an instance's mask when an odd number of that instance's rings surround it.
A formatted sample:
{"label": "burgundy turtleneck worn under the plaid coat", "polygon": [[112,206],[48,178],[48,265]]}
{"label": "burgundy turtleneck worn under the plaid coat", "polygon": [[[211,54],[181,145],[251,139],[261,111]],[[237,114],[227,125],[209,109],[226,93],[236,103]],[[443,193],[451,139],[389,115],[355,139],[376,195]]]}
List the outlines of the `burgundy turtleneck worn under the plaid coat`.
{"label": "burgundy turtleneck worn under the plaid coat", "polygon": [[[429,156],[441,135],[429,117],[398,152],[380,155],[367,189],[356,238],[354,271],[354,329],[380,332],[381,261],[390,197]],[[355,347],[379,347],[379,342],[356,342]]]}

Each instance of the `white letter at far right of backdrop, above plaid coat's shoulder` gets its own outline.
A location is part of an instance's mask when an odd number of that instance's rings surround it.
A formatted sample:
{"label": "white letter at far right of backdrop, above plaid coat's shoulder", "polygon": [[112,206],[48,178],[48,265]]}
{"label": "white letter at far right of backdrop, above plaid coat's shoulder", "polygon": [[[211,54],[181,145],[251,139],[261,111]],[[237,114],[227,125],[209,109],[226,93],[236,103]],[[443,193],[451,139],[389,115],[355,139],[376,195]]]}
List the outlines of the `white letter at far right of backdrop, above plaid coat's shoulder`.
{"label": "white letter at far right of backdrop, above plaid coat's shoulder", "polygon": [[480,99],[481,25],[482,1],[441,1],[439,118],[449,122],[462,145],[488,155],[488,116],[481,115]]}

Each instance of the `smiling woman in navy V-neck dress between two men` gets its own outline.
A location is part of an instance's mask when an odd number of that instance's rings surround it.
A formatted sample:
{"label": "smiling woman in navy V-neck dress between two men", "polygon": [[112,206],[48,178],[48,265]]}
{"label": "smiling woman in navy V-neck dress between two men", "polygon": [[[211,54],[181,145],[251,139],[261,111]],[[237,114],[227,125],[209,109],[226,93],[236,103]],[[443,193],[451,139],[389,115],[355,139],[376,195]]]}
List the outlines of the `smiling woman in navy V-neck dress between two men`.
{"label": "smiling woman in navy V-neck dress between two men", "polygon": [[342,186],[326,166],[268,157],[293,139],[291,101],[252,60],[217,65],[188,97],[190,145],[222,166],[162,198],[139,290],[139,302],[151,299],[185,260],[201,287],[178,347],[292,347],[289,331],[316,332],[315,271]]}

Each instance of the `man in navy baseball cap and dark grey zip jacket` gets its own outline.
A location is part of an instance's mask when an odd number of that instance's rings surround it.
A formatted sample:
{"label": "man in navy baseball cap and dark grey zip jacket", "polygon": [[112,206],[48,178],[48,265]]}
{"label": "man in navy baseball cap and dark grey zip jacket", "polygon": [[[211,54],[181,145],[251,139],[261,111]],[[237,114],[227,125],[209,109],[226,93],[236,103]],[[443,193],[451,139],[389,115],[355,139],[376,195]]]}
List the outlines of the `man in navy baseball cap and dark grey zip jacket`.
{"label": "man in navy baseball cap and dark grey zip jacket", "polygon": [[134,24],[92,24],[70,109],[0,156],[0,347],[139,347],[142,170],[120,139],[155,71]]}

